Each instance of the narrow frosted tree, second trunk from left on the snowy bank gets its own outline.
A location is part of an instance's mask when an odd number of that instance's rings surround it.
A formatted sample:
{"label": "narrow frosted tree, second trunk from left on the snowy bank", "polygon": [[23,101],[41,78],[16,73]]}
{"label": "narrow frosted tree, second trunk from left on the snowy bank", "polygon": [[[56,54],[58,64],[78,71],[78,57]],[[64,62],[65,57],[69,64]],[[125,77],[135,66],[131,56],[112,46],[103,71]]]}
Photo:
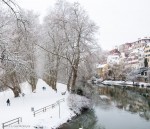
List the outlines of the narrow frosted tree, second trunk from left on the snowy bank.
{"label": "narrow frosted tree, second trunk from left on the snowy bank", "polygon": [[26,29],[22,33],[22,36],[24,36],[24,40],[22,41],[24,51],[21,52],[20,55],[23,56],[23,60],[26,62],[26,72],[24,74],[24,78],[32,86],[32,91],[34,91],[38,80],[36,72],[38,57],[36,54],[37,48],[35,43],[38,43],[39,41],[39,20],[38,15],[35,15],[32,11],[25,12],[24,19],[28,22],[26,22]]}

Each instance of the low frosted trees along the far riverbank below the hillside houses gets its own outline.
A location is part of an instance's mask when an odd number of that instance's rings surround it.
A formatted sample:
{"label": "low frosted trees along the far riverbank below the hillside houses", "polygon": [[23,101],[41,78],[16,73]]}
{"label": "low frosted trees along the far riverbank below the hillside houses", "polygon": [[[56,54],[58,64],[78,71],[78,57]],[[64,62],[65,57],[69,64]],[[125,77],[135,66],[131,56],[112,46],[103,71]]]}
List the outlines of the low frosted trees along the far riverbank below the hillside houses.
{"label": "low frosted trees along the far riverbank below the hillside houses", "polygon": [[139,69],[126,67],[124,62],[120,62],[120,64],[113,64],[108,67],[108,71],[106,72],[106,79],[133,81],[133,85],[135,81],[148,82],[149,69],[146,67],[146,65],[145,67]]}

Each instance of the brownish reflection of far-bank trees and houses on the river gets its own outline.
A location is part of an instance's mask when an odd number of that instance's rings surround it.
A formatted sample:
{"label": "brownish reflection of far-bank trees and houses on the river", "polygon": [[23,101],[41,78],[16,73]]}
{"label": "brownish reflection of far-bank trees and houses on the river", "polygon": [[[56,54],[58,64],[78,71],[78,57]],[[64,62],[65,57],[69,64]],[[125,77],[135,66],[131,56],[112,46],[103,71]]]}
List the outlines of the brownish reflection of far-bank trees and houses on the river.
{"label": "brownish reflection of far-bank trees and houses on the river", "polygon": [[[100,94],[109,96],[117,108],[131,113],[139,113],[140,117],[150,120],[150,97],[144,96],[145,93],[149,95],[147,89],[106,86],[100,87],[98,90]],[[108,104],[108,108],[110,108],[109,106]]]}

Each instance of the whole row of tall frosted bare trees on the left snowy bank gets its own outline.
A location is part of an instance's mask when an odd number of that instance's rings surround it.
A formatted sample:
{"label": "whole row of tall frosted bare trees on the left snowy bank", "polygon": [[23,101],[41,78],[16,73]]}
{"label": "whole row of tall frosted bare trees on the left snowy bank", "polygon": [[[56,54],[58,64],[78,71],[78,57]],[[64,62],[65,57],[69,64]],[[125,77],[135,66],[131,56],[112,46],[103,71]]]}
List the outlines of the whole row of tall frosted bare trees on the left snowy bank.
{"label": "whole row of tall frosted bare trees on the left snowy bank", "polygon": [[55,90],[58,81],[74,90],[78,79],[93,73],[98,27],[78,3],[58,1],[42,25],[12,0],[1,0],[0,7],[0,87],[17,97],[21,82],[34,91],[42,78]]}

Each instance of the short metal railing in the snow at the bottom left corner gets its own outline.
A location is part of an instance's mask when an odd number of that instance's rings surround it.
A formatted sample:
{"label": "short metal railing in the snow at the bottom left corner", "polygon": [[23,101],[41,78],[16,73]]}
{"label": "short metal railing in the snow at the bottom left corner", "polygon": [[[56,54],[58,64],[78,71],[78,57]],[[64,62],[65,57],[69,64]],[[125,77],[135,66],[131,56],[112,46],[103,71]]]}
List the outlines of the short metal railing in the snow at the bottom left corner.
{"label": "short metal railing in the snow at the bottom left corner", "polygon": [[15,118],[15,119],[12,119],[10,121],[2,123],[2,128],[4,129],[6,126],[12,125],[14,123],[18,123],[19,124],[19,122],[22,122],[22,118],[21,117],[18,117],[18,118]]}

